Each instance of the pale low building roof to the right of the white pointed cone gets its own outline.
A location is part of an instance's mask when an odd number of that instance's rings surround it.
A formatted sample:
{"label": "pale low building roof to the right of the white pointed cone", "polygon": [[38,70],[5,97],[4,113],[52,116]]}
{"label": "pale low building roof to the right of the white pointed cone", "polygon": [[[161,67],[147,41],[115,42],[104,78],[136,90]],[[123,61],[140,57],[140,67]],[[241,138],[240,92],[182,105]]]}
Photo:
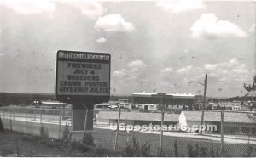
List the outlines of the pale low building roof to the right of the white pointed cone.
{"label": "pale low building roof to the right of the white pointed cone", "polygon": [[[187,121],[201,121],[201,111],[183,111]],[[244,112],[224,112],[224,122],[255,123]],[[220,121],[220,112],[205,111],[204,121]]]}

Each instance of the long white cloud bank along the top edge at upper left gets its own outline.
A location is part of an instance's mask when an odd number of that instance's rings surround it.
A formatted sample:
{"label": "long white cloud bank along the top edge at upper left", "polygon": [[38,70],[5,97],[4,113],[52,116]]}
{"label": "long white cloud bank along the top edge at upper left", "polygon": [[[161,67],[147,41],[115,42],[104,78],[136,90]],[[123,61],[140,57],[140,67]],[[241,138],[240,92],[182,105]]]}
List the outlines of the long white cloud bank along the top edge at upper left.
{"label": "long white cloud bank along the top edge at upper left", "polygon": [[19,14],[38,14],[55,11],[55,3],[65,3],[78,8],[82,14],[89,18],[101,16],[106,11],[102,4],[89,0],[1,0],[5,7],[12,8]]}

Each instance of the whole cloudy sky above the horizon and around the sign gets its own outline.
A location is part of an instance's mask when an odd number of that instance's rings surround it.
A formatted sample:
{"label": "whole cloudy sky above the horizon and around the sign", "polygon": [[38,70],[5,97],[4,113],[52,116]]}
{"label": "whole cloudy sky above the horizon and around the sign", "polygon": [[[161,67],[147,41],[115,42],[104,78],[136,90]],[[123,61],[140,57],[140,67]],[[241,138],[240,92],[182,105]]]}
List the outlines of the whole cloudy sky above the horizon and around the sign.
{"label": "whole cloudy sky above the horizon and around the sign", "polygon": [[58,50],[111,54],[111,94],[233,97],[255,76],[255,1],[0,0],[0,92],[54,93]]}

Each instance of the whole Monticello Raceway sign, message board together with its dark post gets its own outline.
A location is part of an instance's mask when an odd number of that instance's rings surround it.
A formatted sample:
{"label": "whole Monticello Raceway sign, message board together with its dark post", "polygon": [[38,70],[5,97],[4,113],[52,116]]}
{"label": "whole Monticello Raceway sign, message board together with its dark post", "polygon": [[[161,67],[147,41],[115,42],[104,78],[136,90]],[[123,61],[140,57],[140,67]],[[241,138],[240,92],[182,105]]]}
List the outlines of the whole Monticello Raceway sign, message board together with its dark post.
{"label": "whole Monticello Raceway sign, message board together with its dark post", "polygon": [[73,131],[92,130],[94,104],[109,101],[110,59],[110,54],[57,52],[55,99],[73,104]]}

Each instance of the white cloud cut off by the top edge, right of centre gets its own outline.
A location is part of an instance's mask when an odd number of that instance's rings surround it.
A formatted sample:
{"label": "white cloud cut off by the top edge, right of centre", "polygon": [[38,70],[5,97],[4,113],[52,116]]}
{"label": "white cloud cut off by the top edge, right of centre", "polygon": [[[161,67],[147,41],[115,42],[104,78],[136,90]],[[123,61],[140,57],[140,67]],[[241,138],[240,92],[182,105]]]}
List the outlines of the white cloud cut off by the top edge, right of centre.
{"label": "white cloud cut off by the top edge, right of centre", "polygon": [[193,9],[204,8],[205,5],[201,0],[158,0],[156,6],[163,8],[165,11],[173,13],[186,12]]}

